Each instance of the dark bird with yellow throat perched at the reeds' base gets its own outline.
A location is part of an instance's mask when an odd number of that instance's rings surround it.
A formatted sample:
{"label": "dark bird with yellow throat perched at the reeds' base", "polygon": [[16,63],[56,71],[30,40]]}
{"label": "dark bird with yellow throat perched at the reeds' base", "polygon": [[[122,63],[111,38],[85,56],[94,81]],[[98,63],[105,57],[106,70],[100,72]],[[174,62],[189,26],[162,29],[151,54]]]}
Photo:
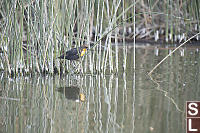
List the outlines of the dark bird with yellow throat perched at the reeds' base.
{"label": "dark bird with yellow throat perched at the reeds' base", "polygon": [[83,45],[79,48],[72,48],[58,58],[67,60],[78,60],[85,54],[87,48],[87,45]]}

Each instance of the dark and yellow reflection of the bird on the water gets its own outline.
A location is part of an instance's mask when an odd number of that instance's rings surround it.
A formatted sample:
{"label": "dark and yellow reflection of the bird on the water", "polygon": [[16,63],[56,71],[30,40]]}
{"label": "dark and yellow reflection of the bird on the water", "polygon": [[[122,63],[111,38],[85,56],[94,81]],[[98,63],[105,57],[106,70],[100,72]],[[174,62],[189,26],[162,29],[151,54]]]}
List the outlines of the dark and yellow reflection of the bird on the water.
{"label": "dark and yellow reflection of the bird on the water", "polygon": [[59,87],[57,88],[57,91],[63,93],[65,97],[69,100],[73,100],[76,102],[85,101],[85,95],[83,93],[80,93],[80,88],[77,86]]}

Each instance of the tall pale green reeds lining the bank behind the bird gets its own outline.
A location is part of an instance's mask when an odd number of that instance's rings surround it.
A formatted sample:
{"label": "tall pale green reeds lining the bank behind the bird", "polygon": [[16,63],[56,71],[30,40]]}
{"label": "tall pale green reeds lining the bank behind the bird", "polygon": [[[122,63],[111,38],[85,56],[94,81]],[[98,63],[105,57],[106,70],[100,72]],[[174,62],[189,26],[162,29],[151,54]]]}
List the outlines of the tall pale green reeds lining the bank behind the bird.
{"label": "tall pale green reeds lining the bank behind the bird", "polygon": [[197,0],[2,0],[0,68],[10,75],[71,73],[57,57],[87,43],[81,72],[117,73],[119,58],[126,71],[126,41],[184,41],[199,32],[199,7]]}

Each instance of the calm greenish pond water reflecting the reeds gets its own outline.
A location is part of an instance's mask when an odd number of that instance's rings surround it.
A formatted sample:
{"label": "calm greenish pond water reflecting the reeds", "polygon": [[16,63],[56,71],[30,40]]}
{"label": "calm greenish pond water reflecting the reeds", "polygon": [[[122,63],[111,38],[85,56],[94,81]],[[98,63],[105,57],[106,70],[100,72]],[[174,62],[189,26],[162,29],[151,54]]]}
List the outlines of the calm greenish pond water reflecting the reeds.
{"label": "calm greenish pond water reflecting the reeds", "polygon": [[0,133],[183,133],[185,101],[200,100],[198,47],[128,48],[118,75],[1,75]]}

